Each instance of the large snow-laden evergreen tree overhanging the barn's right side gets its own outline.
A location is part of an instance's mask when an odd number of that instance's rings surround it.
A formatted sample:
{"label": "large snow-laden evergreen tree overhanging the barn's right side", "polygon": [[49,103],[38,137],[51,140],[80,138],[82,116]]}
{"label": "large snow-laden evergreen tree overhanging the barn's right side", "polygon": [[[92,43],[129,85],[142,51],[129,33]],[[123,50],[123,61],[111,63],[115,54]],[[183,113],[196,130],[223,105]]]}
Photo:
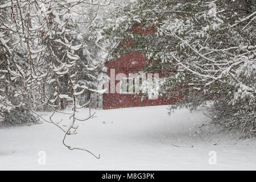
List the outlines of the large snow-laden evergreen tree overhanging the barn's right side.
{"label": "large snow-laden evergreen tree overhanging the barn's right side", "polygon": [[[255,9],[246,0],[138,0],[93,28],[109,43],[109,59],[139,51],[146,57],[145,72],[164,73],[161,94],[183,95],[171,109],[196,109],[212,100],[213,121],[254,134]],[[155,33],[132,31],[134,26]],[[113,49],[123,40],[133,44]]]}

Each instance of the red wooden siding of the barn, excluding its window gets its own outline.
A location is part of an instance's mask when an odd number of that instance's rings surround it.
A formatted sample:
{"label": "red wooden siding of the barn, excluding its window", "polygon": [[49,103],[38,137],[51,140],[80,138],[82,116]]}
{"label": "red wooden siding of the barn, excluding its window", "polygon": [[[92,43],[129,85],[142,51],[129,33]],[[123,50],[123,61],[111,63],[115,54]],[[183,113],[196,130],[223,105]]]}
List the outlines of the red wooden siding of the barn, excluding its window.
{"label": "red wooden siding of the barn, excluding its window", "polygon": [[[144,35],[154,34],[154,28],[146,28],[145,31],[141,30],[141,26],[134,26],[132,31],[142,33]],[[123,41],[119,46],[129,46],[132,41]],[[129,77],[129,73],[134,73],[142,70],[146,66],[146,58],[139,52],[126,53],[121,55],[117,60],[108,61],[105,64],[108,67],[108,76],[110,77],[110,70],[115,69],[115,76],[118,73],[125,73]],[[160,75],[160,74],[159,74]],[[115,85],[119,80],[115,80]],[[136,96],[136,97],[135,97]],[[103,94],[103,109],[115,109],[121,107],[139,107],[139,106],[155,106],[155,105],[171,105],[177,102],[177,98],[158,98],[158,100],[142,100],[141,94],[119,94],[117,92]]]}

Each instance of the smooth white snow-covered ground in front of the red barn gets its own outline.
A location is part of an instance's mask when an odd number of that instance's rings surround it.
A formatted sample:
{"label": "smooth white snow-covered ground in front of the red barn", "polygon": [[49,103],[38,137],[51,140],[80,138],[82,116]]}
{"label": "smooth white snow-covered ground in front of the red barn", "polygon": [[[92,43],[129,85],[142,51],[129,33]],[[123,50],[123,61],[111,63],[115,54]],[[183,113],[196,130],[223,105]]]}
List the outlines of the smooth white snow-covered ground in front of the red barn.
{"label": "smooth white snow-covered ground in front of the red barn", "polygon": [[[100,159],[68,150],[61,143],[64,133],[43,123],[0,129],[0,169],[256,169],[256,141],[238,140],[239,134],[210,127],[204,109],[176,110],[171,116],[167,106],[94,111],[96,117],[82,122],[78,134],[68,136],[67,142],[101,154]],[[80,110],[79,118],[87,115],[87,109]],[[44,152],[46,164],[40,165]],[[212,154],[216,164],[209,164],[209,159],[214,161]]]}

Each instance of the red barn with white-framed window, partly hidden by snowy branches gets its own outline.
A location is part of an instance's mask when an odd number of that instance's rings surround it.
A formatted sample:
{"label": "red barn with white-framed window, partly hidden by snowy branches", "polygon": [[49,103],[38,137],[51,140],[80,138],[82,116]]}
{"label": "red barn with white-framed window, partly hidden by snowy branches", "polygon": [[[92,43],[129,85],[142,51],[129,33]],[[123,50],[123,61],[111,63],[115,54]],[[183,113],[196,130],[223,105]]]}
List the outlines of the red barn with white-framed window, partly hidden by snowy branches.
{"label": "red barn with white-framed window, partly hidden by snowy branches", "polygon": [[[142,32],[140,26],[134,26],[132,31],[142,33],[143,35],[154,34],[155,32],[152,28],[148,28],[146,31]],[[129,42],[123,41],[119,44],[119,47],[124,44],[125,46],[129,46]],[[167,98],[156,97],[142,101],[142,93],[140,93],[141,90],[139,90],[139,94],[136,94],[138,93],[138,90],[135,90],[135,82],[141,84],[142,81],[135,81],[135,78],[129,77],[129,73],[134,75],[146,67],[146,58],[139,52],[123,54],[117,60],[106,62],[105,66],[108,68],[107,74],[110,77],[110,82],[108,85],[109,89],[103,94],[103,109],[171,105],[179,99],[179,97],[176,97],[167,100]]]}

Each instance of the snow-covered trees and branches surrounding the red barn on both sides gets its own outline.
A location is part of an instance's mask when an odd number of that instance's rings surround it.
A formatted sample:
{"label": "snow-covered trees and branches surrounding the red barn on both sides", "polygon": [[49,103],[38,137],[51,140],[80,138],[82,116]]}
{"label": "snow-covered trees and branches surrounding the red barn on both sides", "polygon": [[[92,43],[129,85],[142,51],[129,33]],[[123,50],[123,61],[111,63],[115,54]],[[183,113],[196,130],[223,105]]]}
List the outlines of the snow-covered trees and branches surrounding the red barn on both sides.
{"label": "snow-covered trees and branches surrounding the red barn on both sides", "polygon": [[[164,72],[160,96],[182,93],[170,113],[210,100],[207,115],[214,123],[254,137],[255,5],[254,0],[2,0],[0,124],[38,123],[38,111],[64,113],[71,104],[68,127],[47,122],[65,136],[76,134],[76,121],[93,115],[77,118],[77,109],[101,107],[104,90],[98,85],[104,78],[98,76],[106,72],[105,61],[139,51],[147,59],[145,73]],[[155,34],[130,31],[136,24],[155,28]],[[130,39],[133,46],[114,49]]]}

